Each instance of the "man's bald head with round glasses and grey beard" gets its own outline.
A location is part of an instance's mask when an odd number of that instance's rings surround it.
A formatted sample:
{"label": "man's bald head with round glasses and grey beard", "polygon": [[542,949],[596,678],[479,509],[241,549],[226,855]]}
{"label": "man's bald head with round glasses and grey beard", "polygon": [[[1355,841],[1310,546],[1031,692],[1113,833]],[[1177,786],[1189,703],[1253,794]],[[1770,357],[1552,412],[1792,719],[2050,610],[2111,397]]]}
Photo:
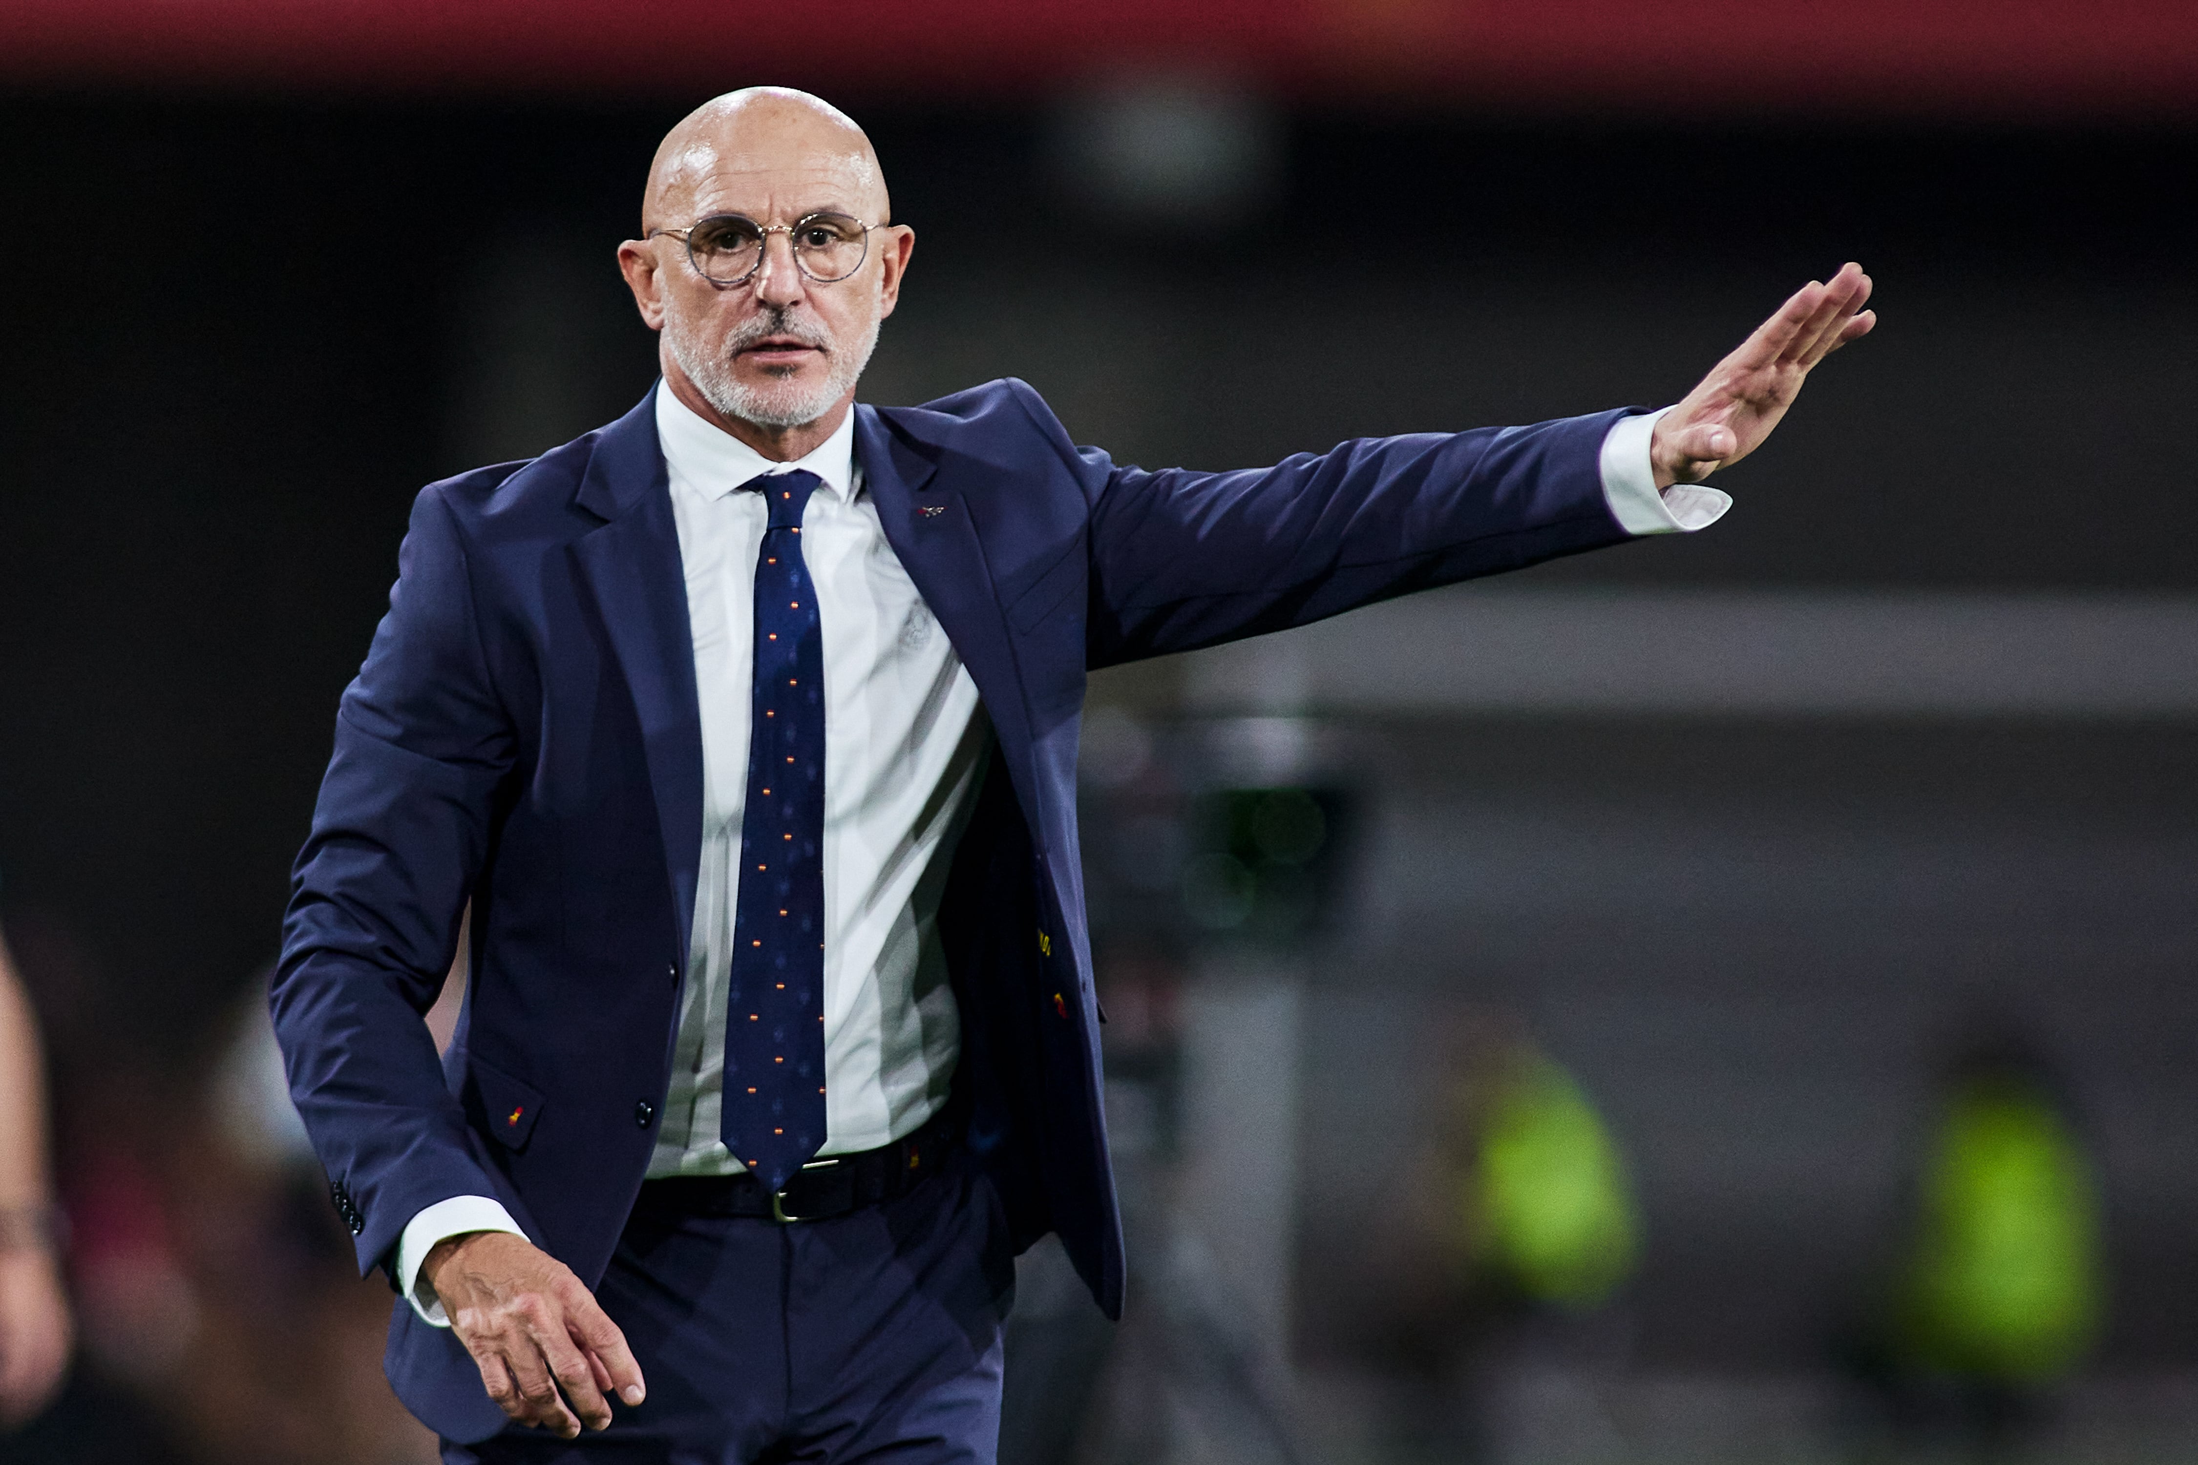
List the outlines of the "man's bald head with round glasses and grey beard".
{"label": "man's bald head with round glasses and grey beard", "polygon": [[[862,264],[846,279],[815,279],[835,272],[815,248],[826,235],[793,235],[820,213],[855,226],[840,248],[859,250]],[[750,237],[725,215],[763,231],[754,275],[734,283],[723,277],[739,268],[710,264],[721,277],[712,281],[686,244],[703,220],[719,222],[697,239]],[[642,318],[662,332],[666,384],[767,452],[813,448],[853,402],[879,321],[899,299],[914,235],[890,217],[870,138],[837,108],[774,86],[697,108],[657,147],[642,237],[618,248]]]}

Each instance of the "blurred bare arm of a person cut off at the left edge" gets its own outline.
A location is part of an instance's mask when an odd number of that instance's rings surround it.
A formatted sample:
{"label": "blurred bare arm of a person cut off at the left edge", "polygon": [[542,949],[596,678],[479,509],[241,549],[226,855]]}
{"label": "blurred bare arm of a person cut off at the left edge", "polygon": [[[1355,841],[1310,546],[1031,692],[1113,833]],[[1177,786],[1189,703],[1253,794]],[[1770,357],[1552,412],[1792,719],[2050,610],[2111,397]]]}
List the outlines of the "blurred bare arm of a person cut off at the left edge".
{"label": "blurred bare arm of a person cut off at the left edge", "polygon": [[70,1346],[62,1210],[46,1166],[46,1065],[0,938],[0,1430],[53,1401]]}

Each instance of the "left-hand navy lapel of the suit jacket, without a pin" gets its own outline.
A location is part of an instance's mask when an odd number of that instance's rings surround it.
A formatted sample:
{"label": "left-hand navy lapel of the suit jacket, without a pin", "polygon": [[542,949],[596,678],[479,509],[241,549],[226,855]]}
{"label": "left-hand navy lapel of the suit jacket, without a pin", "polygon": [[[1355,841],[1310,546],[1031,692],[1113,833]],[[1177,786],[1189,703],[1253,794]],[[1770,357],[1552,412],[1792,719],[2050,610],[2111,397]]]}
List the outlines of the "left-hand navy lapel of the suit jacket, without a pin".
{"label": "left-hand navy lapel of the suit jacket, without a pin", "polygon": [[701,861],[701,703],[695,692],[695,628],[679,562],[679,527],[673,521],[664,450],[657,446],[655,404],[651,391],[598,435],[578,503],[609,523],[580,536],[571,556],[596,595],[611,655],[640,714],[648,789],[679,912],[684,966],[692,949]]}

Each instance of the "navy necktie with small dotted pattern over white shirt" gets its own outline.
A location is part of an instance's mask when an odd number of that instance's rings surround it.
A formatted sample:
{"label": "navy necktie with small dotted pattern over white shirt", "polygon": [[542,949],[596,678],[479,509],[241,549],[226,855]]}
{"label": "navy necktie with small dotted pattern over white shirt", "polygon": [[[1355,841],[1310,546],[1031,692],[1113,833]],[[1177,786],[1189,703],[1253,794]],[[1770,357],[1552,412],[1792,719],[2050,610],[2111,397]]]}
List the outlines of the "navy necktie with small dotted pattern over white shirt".
{"label": "navy necktie with small dotted pattern over white shirt", "polygon": [[824,1144],[824,635],[802,564],[802,510],[818,483],[802,470],[750,483],[771,521],[756,553],[719,1133],[771,1190]]}

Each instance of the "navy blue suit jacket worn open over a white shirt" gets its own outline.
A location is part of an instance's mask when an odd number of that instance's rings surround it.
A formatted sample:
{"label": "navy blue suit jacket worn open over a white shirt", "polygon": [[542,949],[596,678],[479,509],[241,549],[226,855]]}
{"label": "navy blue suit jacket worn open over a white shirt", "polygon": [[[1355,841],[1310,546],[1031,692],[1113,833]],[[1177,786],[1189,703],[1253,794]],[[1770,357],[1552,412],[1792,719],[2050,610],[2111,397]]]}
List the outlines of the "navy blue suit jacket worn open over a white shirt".
{"label": "navy blue suit jacket worn open over a white shirt", "polygon": [[[1013,380],[855,413],[886,538],[998,734],[941,907],[969,1144],[1018,1243],[1057,1230],[1119,1316],[1077,863],[1086,670],[1622,540],[1598,472],[1622,413],[1248,472],[1114,466]],[[360,1270],[389,1265],[424,1206],[495,1195],[580,1281],[602,1276],[668,1085],[701,778],[653,400],[426,488],[343,694],[273,984]],[[468,901],[473,984],[437,1065],[420,1015]],[[402,1300],[387,1368],[444,1436],[503,1425],[457,1340]]]}

